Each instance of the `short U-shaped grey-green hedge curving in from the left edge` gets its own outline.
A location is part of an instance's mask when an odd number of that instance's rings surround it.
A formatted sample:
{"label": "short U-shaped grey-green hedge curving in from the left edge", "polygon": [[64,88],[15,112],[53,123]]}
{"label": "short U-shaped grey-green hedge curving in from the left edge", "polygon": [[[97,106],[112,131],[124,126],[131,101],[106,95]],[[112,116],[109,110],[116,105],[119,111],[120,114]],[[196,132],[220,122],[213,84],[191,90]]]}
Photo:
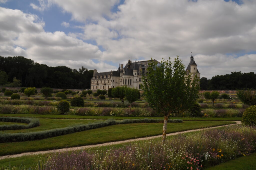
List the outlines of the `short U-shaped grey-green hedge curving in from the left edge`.
{"label": "short U-shaped grey-green hedge curving in from the left edge", "polygon": [[[28,125],[1,125],[0,130],[18,130],[18,129],[29,129],[39,126],[39,119],[31,119],[31,118],[18,118],[18,117],[0,117],[1,122],[17,122],[17,123],[27,123]],[[1,137],[0,137],[1,138]]]}

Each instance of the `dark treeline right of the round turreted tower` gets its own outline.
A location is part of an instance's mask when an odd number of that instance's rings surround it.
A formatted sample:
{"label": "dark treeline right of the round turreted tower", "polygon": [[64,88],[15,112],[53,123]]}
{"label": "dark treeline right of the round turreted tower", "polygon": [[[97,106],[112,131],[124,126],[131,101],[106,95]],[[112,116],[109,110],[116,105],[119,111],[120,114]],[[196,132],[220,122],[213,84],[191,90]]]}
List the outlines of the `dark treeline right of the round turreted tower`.
{"label": "dark treeline right of the round turreted tower", "polygon": [[202,77],[200,79],[202,90],[236,90],[236,89],[256,89],[256,74],[254,72],[241,73],[231,72],[231,74],[217,75],[211,79]]}

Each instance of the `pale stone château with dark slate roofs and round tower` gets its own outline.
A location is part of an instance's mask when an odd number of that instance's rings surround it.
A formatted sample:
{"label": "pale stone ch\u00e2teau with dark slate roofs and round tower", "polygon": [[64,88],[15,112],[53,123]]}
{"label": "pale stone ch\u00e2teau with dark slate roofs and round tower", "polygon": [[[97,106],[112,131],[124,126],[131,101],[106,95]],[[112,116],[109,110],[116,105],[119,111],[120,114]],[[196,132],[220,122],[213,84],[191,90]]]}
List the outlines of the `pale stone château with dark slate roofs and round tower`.
{"label": "pale stone ch\u00e2teau with dark slate roofs and round tower", "polygon": [[[118,67],[117,71],[108,71],[98,73],[96,69],[93,70],[93,77],[91,79],[91,90],[96,91],[108,90],[109,88],[117,86],[127,86],[135,89],[141,89],[142,75],[147,71],[148,62],[146,61],[136,61],[132,62],[130,59],[128,63],[123,67],[123,64]],[[158,62],[154,59],[154,61]],[[159,62],[158,62],[159,63]],[[186,73],[191,74],[191,78],[197,75],[200,79],[200,73],[197,69],[197,64],[194,57],[191,55],[189,65],[186,69]]]}

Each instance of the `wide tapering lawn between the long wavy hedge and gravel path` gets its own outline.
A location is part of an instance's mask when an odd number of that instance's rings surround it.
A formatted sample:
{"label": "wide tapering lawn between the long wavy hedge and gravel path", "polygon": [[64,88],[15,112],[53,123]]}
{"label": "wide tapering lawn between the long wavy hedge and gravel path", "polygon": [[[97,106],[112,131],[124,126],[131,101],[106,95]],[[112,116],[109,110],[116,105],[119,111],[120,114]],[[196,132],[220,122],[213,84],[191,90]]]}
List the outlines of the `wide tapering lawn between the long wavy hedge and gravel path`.
{"label": "wide tapering lawn between the long wavy hedge and gravel path", "polygon": [[[231,124],[227,121],[185,121],[168,123],[167,133]],[[112,125],[42,140],[0,143],[0,155],[42,151],[64,147],[92,145],[162,134],[163,123],[133,123]]]}

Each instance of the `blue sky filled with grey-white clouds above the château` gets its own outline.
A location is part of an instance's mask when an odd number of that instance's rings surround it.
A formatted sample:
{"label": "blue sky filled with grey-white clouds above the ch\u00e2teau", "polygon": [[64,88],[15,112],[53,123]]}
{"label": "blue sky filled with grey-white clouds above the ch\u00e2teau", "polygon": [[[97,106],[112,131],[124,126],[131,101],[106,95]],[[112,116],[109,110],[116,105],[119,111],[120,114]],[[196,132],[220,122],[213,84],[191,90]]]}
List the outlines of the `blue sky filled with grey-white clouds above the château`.
{"label": "blue sky filled with grey-white clouds above the ch\u00e2teau", "polygon": [[0,56],[117,70],[191,52],[201,77],[256,73],[255,0],[0,0]]}

